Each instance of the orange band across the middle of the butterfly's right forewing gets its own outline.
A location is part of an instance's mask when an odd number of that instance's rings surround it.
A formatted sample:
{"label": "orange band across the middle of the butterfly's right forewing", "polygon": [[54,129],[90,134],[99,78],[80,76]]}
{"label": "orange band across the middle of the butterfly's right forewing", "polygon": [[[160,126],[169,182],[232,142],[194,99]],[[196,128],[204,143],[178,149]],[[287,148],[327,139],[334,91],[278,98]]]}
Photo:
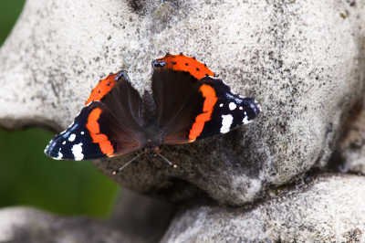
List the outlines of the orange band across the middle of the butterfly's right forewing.
{"label": "orange band across the middle of the butterfly's right forewing", "polygon": [[215,91],[211,86],[203,84],[199,90],[203,93],[203,97],[205,98],[203,103],[203,113],[195,118],[195,122],[193,123],[193,127],[189,133],[189,138],[191,140],[195,140],[196,137],[203,132],[204,124],[211,120],[214,105],[218,100],[215,96]]}

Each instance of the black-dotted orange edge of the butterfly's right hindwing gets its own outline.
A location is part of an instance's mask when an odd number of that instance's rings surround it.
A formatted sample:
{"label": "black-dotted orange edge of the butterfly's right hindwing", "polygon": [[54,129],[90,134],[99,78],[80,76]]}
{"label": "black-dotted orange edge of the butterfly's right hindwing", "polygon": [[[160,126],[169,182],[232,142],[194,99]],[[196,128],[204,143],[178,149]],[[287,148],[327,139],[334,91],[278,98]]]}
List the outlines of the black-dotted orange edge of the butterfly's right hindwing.
{"label": "black-dotted orange edge of the butterfly's right hindwing", "polygon": [[202,79],[205,75],[214,77],[214,72],[208,69],[205,64],[183,54],[166,54],[165,57],[156,60],[166,62],[164,67],[167,69],[188,71],[195,79]]}

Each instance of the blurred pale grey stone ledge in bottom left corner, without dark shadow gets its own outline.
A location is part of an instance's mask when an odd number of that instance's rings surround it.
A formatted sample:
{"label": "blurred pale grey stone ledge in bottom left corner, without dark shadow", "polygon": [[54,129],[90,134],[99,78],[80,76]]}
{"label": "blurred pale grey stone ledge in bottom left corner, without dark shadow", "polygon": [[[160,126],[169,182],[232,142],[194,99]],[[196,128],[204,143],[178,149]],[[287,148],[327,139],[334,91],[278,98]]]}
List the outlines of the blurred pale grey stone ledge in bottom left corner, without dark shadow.
{"label": "blurred pale grey stone ledge in bottom left corner, without dark shadow", "polygon": [[36,209],[0,210],[0,242],[148,242],[110,222],[87,217],[57,217]]}

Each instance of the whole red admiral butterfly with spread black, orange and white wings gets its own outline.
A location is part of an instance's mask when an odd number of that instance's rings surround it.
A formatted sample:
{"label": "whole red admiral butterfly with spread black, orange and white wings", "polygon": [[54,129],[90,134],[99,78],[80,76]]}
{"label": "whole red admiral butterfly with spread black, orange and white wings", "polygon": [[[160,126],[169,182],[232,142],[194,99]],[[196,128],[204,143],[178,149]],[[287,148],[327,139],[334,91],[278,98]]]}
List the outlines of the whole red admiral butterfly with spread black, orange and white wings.
{"label": "whole red admiral butterfly with spread black, orange and white wings", "polygon": [[141,97],[125,71],[110,73],[45,153],[57,160],[92,160],[137,150],[162,156],[162,145],[192,143],[252,122],[261,111],[255,99],[232,93],[213,76],[195,58],[166,54],[152,61],[152,94],[145,90]]}

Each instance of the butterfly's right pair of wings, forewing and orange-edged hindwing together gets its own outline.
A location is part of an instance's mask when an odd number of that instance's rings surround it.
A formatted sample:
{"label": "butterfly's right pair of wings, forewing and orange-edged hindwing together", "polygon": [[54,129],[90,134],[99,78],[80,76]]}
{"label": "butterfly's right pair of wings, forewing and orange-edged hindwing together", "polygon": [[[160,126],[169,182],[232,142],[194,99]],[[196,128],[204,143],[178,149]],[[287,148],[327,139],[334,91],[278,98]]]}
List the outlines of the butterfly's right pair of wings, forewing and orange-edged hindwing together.
{"label": "butterfly's right pair of wings, forewing and orange-edged hindwing together", "polygon": [[152,92],[164,144],[191,143],[251,122],[254,98],[232,93],[195,58],[167,54],[152,62]]}

